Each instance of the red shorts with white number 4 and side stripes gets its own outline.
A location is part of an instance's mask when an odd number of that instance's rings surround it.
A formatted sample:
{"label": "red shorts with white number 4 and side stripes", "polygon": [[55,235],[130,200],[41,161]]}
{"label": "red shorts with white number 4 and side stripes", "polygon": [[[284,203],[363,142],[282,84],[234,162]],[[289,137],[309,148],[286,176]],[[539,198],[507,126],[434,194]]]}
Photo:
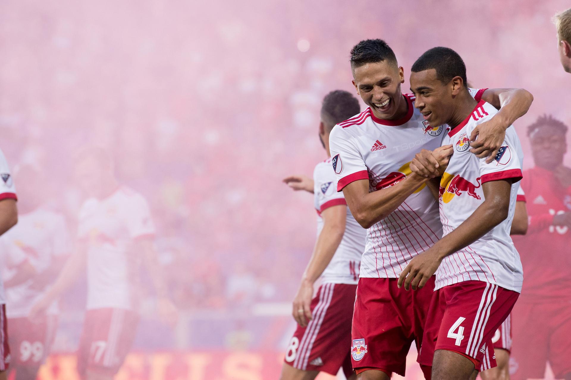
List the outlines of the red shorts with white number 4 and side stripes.
{"label": "red shorts with white number 4 and side stripes", "polygon": [[436,350],[450,350],[475,359],[477,370],[495,367],[492,337],[519,295],[484,281],[463,281],[435,291],[419,363],[432,365]]}

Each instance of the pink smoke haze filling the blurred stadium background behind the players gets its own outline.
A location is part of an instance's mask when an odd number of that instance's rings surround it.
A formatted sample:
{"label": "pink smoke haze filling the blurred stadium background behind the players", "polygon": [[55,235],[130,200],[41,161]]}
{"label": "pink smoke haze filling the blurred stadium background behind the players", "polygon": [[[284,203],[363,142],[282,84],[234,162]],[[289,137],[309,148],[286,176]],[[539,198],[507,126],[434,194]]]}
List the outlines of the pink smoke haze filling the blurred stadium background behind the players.
{"label": "pink smoke haze filling the blurred stadium background behind the players", "polygon": [[[325,157],[320,103],[333,89],[354,91],[351,47],[387,40],[408,78],[420,54],[447,46],[464,58],[473,87],[528,89],[534,103],[516,123],[528,152],[525,128],[537,116],[571,125],[571,77],[550,21],[567,7],[561,0],[5,1],[0,148],[11,166],[46,172],[43,197],[65,213],[72,234],[82,201],[73,157],[83,146],[108,149],[120,181],[146,196],[182,321],[155,340],[143,334],[135,350],[264,350],[276,353],[269,366],[278,371],[293,323],[288,303],[316,228],[311,197],[281,179],[310,175]],[[74,349],[81,323],[75,293],[58,332],[63,351]],[[268,303],[285,312],[267,316]],[[152,313],[146,318],[158,323]]]}

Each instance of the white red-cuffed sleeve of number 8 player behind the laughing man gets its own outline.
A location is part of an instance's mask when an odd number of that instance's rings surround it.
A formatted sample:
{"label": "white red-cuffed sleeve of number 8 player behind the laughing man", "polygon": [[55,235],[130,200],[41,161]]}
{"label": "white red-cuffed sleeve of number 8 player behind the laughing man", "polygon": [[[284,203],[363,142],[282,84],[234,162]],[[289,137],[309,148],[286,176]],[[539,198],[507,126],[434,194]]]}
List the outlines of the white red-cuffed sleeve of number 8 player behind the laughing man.
{"label": "white red-cuffed sleeve of number 8 player behind the laughing man", "polygon": [[343,193],[337,193],[337,178],[331,169],[331,158],[320,162],[313,170],[313,197],[319,213],[332,206],[347,205]]}

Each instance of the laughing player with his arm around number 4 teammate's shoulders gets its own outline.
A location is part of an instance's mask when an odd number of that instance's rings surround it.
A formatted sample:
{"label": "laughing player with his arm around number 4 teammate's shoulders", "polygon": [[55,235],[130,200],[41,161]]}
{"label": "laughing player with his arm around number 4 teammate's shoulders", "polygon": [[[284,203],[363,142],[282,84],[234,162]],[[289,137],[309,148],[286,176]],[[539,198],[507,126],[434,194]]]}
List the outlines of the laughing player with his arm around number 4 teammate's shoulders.
{"label": "laughing player with his arm around number 4 teammate's shoulders", "polygon": [[[423,120],[415,96],[401,92],[404,69],[387,43],[358,43],[351,68],[355,89],[369,107],[337,124],[329,142],[337,190],[357,222],[368,228],[353,313],[352,362],[357,378],[386,380],[393,372],[405,375],[413,341],[420,349],[433,295],[430,285],[414,293],[398,289],[397,279],[442,234],[428,178],[412,173],[410,162],[421,148],[439,150],[444,157],[450,149],[440,148],[444,128]],[[502,106],[471,136],[480,144],[471,150],[474,157],[486,160],[500,148],[509,124],[527,112],[532,97],[521,89],[472,90],[472,95]],[[427,378],[429,370],[423,367]]]}

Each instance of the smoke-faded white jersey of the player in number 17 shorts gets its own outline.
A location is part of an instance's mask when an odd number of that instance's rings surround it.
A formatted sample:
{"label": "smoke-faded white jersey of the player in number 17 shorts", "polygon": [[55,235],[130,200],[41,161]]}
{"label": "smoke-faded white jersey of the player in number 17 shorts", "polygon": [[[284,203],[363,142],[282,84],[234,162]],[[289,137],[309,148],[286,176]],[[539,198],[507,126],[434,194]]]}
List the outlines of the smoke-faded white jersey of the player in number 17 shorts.
{"label": "smoke-faded white jersey of the player in number 17 shorts", "polygon": [[147,202],[127,187],[83,204],[78,237],[87,243],[87,309],[136,311],[140,256],[132,243],[154,232]]}

